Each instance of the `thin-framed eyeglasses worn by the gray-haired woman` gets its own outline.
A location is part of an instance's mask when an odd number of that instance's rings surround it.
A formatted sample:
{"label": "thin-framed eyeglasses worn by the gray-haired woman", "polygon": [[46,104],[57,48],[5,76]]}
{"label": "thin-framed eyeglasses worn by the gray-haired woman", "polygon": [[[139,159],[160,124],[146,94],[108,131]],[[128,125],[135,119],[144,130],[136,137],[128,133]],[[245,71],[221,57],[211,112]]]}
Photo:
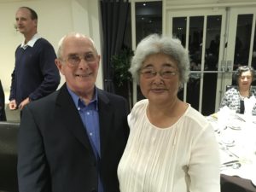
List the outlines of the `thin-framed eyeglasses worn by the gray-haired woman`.
{"label": "thin-framed eyeglasses worn by the gray-haired woman", "polygon": [[172,79],[175,75],[177,75],[177,72],[172,71],[170,69],[164,69],[160,72],[155,72],[153,69],[144,68],[140,72],[145,79],[151,79],[156,76],[157,73],[160,74],[160,77],[162,79]]}

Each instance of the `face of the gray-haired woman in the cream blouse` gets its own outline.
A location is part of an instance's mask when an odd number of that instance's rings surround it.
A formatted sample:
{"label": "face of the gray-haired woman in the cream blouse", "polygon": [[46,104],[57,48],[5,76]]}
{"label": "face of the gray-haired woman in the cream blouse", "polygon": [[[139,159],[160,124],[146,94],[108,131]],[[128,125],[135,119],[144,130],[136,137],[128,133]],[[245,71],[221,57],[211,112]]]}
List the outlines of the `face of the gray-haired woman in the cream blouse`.
{"label": "face of the gray-haired woman in the cream blouse", "polygon": [[166,54],[148,55],[140,71],[140,88],[149,102],[172,102],[177,97],[177,61]]}

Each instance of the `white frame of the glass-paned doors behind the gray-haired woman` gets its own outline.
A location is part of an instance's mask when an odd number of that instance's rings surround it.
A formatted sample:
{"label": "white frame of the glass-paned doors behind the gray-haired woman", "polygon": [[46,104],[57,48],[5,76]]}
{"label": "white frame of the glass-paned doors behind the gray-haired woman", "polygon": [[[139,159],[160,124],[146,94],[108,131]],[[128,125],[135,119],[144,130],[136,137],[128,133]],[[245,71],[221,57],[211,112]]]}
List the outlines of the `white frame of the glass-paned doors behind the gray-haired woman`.
{"label": "white frame of the glass-paned doors behind the gray-haired woman", "polygon": [[[201,8],[174,8],[165,9],[165,25],[163,25],[163,33],[172,36],[172,18],[174,17],[190,17],[190,16],[204,16],[204,27],[203,27],[203,39],[202,39],[202,54],[201,54],[201,87],[200,87],[200,98],[199,98],[199,111],[201,112],[202,103],[202,87],[203,87],[203,65],[204,55],[206,50],[206,29],[208,15],[222,15],[221,32],[220,32],[220,46],[218,56],[218,79],[217,79],[217,90],[215,99],[215,112],[218,111],[219,103],[225,92],[225,87],[232,83],[233,61],[235,55],[235,44],[236,44],[236,26],[238,15],[253,14],[253,26],[252,35],[250,42],[250,51],[248,58],[248,65],[251,66],[252,55],[253,55],[253,39],[255,32],[255,15],[256,5],[245,5],[245,6],[216,6],[216,7],[201,7]],[[187,20],[187,32],[186,42],[189,42],[189,20]],[[229,43],[229,44],[227,44]],[[188,49],[188,43],[186,43],[186,49]],[[192,72],[193,73],[193,72]],[[184,85],[184,95],[187,95],[187,87]],[[184,96],[185,97],[185,96]],[[186,100],[184,99],[184,102]]]}

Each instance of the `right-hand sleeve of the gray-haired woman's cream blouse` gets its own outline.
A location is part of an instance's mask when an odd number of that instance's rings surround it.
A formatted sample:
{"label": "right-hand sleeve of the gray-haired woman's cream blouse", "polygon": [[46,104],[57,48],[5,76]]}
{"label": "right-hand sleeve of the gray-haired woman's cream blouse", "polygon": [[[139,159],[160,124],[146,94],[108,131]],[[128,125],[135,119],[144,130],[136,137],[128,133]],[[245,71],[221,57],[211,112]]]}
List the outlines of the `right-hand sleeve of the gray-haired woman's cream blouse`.
{"label": "right-hand sleeve of the gray-haired woman's cream blouse", "polygon": [[218,143],[210,124],[192,146],[189,161],[190,192],[220,192]]}

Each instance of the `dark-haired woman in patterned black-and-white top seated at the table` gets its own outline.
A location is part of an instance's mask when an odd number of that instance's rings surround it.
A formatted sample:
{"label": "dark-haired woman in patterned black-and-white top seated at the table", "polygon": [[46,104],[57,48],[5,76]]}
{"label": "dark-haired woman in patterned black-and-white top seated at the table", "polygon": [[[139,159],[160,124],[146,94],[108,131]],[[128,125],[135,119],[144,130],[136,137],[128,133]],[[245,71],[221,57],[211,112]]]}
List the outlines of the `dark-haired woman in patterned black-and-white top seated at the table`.
{"label": "dark-haired woman in patterned black-and-white top seated at the table", "polygon": [[[224,93],[224,97],[220,103],[220,108],[227,106],[231,110],[236,111],[236,113],[244,113],[245,98],[250,99],[252,96],[256,96],[256,90],[252,89],[254,69],[253,67],[248,66],[238,67],[235,76],[238,86],[237,88],[233,87]],[[256,103],[254,103],[252,114],[256,115]]]}

